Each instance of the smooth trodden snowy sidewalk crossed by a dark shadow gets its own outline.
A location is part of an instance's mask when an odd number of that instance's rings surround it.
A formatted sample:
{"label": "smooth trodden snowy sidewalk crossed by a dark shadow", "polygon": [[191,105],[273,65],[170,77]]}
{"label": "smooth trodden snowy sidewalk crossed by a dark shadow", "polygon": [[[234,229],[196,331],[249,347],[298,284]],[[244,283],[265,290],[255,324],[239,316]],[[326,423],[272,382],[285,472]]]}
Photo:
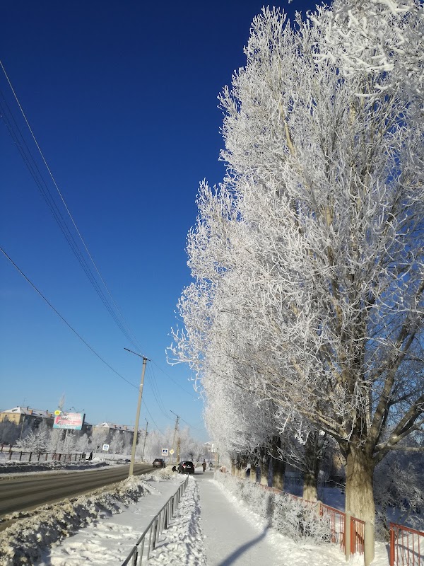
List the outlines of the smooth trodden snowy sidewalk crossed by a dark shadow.
{"label": "smooth trodden snowy sidewalk crossed by a dark shadow", "polygon": [[199,479],[201,529],[208,566],[287,565],[266,538],[267,529],[254,526],[237,511],[205,474]]}

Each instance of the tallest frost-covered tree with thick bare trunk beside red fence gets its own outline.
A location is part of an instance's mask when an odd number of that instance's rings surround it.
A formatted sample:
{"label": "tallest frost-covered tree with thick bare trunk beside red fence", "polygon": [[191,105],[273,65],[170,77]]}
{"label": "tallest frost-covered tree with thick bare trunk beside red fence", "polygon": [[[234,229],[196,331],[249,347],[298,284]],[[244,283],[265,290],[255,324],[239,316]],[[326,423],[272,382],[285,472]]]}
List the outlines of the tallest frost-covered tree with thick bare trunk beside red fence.
{"label": "tallest frost-covered tree with thick bare trunk beside red fence", "polygon": [[[346,509],[374,523],[375,466],[423,427],[423,95],[389,67],[345,72],[331,25],[330,8],[254,20],[220,97],[228,175],[201,184],[171,350],[205,383],[236,366],[235,386],[333,437]],[[349,37],[370,70],[380,43]],[[422,45],[408,49],[419,75]]]}

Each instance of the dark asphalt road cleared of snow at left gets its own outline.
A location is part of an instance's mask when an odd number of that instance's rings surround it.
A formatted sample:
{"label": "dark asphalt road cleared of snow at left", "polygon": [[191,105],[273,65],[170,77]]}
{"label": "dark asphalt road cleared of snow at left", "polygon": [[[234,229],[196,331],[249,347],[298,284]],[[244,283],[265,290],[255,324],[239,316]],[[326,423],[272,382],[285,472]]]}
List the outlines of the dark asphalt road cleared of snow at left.
{"label": "dark asphalt road cleared of snow at left", "polygon": [[[134,475],[154,468],[135,464]],[[128,478],[129,464],[83,472],[50,472],[34,475],[0,476],[0,516],[28,511],[41,504],[81,495]]]}

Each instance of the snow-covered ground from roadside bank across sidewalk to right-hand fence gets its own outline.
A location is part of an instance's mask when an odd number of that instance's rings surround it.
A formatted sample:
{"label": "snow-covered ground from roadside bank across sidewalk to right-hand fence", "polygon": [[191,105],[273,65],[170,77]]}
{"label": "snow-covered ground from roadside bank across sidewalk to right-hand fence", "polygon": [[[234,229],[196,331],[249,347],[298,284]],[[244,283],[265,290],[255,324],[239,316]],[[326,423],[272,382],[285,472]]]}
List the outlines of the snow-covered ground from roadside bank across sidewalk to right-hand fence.
{"label": "snow-covered ground from roadside bank across sidewalk to right-hand fence", "polygon": [[[114,490],[45,507],[25,523],[0,533],[0,566],[119,566],[184,479],[161,470],[149,478],[125,480]],[[20,558],[23,554],[18,549],[22,548],[27,559]],[[294,542],[277,533],[213,480],[213,473],[197,470],[189,477],[175,519],[163,531],[148,562],[150,566],[266,563],[346,565],[337,545]],[[355,557],[351,563],[362,565],[363,559]],[[372,566],[388,563],[386,545],[377,544]]]}

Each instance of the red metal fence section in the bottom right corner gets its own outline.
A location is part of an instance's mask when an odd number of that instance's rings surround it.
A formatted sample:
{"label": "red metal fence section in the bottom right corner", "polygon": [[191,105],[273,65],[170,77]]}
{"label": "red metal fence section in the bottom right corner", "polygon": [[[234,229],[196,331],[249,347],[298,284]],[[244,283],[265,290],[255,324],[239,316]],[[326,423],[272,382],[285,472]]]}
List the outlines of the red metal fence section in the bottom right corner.
{"label": "red metal fence section in the bottom right corner", "polygon": [[424,533],[390,523],[390,566],[423,566]]}

